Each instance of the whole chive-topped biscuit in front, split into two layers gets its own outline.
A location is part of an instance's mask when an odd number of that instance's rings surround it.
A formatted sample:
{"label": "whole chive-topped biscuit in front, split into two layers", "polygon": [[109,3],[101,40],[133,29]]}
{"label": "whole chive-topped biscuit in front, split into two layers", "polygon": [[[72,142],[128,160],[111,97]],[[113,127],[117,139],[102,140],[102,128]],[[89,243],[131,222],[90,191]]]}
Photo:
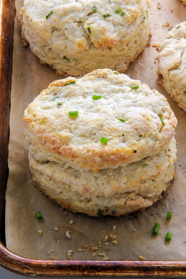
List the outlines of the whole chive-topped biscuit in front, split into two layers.
{"label": "whole chive-topped biscuit in front, split into two layers", "polygon": [[54,81],[23,121],[33,183],[74,212],[143,210],[173,178],[177,119],[163,95],[125,74]]}

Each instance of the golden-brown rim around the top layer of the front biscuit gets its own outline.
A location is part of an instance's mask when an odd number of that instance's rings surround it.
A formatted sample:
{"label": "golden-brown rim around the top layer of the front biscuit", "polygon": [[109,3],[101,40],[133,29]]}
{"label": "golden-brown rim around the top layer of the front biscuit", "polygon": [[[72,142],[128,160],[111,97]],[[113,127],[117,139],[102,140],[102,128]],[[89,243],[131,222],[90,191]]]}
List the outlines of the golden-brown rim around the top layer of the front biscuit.
{"label": "golden-brown rim around the top layer of the front biscuit", "polygon": [[[88,76],[94,76],[101,73],[103,70],[98,69],[94,70],[91,73],[88,73],[84,77]],[[110,72],[110,69],[104,69],[105,72]],[[51,89],[52,86],[63,86],[67,82],[76,81],[77,79],[74,77],[68,77],[66,79],[60,79],[52,82],[49,87],[41,92],[41,95],[45,95],[45,92],[48,89]],[[157,90],[152,90],[154,94],[160,94]],[[166,101],[167,99],[160,94],[162,98],[164,98]],[[170,118],[166,122],[165,127],[162,127],[163,133],[162,133],[162,139],[161,144],[157,147],[157,145],[151,148],[149,148],[146,145],[140,146],[140,151],[134,153],[134,150],[131,148],[126,149],[123,151],[122,148],[105,148],[105,146],[101,147],[99,150],[96,148],[91,147],[91,150],[82,150],[82,148],[78,148],[75,146],[66,146],[66,143],[63,144],[61,138],[59,139],[56,137],[54,132],[48,132],[46,133],[45,130],[40,126],[37,129],[37,135],[34,134],[33,129],[34,126],[30,126],[30,122],[32,121],[32,117],[28,116],[28,108],[25,109],[23,122],[25,123],[25,126],[28,128],[28,130],[32,133],[32,143],[33,144],[41,144],[46,150],[51,151],[54,154],[57,154],[59,156],[63,157],[63,160],[78,160],[79,167],[83,169],[92,169],[94,171],[99,171],[99,169],[104,169],[108,167],[117,167],[122,166],[128,163],[132,163],[138,160],[143,159],[144,157],[152,154],[158,153],[164,146],[167,145],[171,141],[171,139],[174,136],[174,129],[177,126],[177,119],[174,115],[174,112],[171,110],[171,108],[167,107],[168,110],[170,110]],[[89,154],[90,153],[90,154]],[[93,156],[91,155],[93,154]]]}

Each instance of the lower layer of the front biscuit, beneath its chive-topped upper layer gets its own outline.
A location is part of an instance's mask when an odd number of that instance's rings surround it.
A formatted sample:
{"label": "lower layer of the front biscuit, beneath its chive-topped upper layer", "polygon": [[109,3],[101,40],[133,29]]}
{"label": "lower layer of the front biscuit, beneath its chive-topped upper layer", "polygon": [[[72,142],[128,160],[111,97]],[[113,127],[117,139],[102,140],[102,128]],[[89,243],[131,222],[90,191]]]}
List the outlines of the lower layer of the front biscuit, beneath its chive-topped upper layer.
{"label": "lower layer of the front biscuit, beneath its chive-topped upper layer", "polygon": [[116,169],[79,171],[69,165],[36,160],[29,148],[33,184],[51,200],[91,216],[120,216],[161,199],[174,175],[176,142],[159,153]]}

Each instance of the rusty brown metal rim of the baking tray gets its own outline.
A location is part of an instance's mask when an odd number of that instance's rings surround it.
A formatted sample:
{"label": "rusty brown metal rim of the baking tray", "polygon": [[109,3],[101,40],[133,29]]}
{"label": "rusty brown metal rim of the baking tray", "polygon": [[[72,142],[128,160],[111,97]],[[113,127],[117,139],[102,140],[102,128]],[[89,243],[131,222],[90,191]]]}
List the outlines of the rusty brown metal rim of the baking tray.
{"label": "rusty brown metal rim of the baking tray", "polygon": [[0,0],[0,265],[33,277],[185,277],[186,261],[50,261],[20,257],[5,247],[5,191],[12,82],[15,0]]}

